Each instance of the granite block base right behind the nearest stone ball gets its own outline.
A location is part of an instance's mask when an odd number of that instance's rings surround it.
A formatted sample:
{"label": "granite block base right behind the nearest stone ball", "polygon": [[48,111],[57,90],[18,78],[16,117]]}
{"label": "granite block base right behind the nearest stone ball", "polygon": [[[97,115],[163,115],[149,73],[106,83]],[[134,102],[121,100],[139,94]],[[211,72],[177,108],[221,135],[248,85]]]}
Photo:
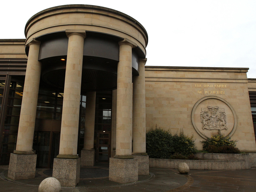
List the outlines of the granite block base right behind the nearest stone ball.
{"label": "granite block base right behind the nearest stone ball", "polygon": [[80,158],[54,158],[52,177],[60,181],[61,187],[75,187],[80,178]]}

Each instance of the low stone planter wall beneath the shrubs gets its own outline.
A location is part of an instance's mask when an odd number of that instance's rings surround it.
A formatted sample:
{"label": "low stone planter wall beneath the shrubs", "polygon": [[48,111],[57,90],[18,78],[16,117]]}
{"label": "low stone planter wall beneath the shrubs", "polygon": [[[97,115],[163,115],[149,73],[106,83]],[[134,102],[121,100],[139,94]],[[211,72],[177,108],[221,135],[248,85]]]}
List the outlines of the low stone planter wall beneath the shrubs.
{"label": "low stone planter wall beneath the shrubs", "polygon": [[[183,159],[154,159],[149,158],[149,167],[177,169],[178,164],[184,162],[190,169],[196,170],[241,170],[250,169],[249,154],[196,154],[205,159],[183,160]],[[212,158],[212,159],[210,159]]]}

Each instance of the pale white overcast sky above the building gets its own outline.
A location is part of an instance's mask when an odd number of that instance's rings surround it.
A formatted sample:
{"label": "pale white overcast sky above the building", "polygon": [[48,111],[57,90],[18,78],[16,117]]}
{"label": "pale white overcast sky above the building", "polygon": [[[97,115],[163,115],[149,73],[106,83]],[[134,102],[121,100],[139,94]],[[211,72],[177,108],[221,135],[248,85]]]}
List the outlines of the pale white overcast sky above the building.
{"label": "pale white overcast sky above the building", "polygon": [[[37,3],[40,2],[40,3]],[[1,2],[0,39],[25,38],[30,17],[64,4],[115,9],[148,32],[147,64],[153,66],[249,67],[256,78],[256,1],[246,0],[43,0]]]}

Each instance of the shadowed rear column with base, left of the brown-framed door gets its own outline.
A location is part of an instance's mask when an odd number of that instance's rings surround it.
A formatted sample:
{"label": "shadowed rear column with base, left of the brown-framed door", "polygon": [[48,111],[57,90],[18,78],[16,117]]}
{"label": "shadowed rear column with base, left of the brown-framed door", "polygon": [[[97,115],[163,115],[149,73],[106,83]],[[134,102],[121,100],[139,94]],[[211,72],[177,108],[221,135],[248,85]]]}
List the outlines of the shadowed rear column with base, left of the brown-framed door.
{"label": "shadowed rear column with base, left of the brown-framed door", "polygon": [[81,166],[93,166],[95,163],[94,123],[96,92],[86,92],[84,148],[81,151]]}

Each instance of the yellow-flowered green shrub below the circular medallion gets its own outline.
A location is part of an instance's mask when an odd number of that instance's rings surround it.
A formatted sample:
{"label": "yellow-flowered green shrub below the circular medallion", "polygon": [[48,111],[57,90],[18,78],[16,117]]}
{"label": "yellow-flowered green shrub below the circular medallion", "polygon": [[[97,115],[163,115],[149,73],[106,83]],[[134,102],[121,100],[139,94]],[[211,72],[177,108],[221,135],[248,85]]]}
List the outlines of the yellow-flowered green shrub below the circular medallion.
{"label": "yellow-flowered green shrub below the circular medallion", "polygon": [[229,136],[224,137],[220,130],[211,138],[201,142],[204,143],[203,150],[208,153],[240,153],[240,150],[236,148],[237,140],[231,140]]}

